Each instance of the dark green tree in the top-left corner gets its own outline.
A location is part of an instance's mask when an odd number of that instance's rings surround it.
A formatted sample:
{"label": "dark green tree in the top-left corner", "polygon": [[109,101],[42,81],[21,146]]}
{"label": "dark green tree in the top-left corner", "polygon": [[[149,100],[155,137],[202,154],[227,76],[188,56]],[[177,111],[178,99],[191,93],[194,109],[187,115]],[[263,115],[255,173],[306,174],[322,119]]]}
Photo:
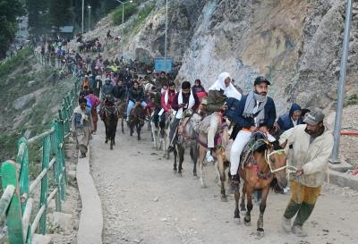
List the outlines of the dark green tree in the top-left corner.
{"label": "dark green tree in the top-left corner", "polygon": [[17,29],[16,18],[25,13],[18,0],[0,0],[0,58],[13,43]]}

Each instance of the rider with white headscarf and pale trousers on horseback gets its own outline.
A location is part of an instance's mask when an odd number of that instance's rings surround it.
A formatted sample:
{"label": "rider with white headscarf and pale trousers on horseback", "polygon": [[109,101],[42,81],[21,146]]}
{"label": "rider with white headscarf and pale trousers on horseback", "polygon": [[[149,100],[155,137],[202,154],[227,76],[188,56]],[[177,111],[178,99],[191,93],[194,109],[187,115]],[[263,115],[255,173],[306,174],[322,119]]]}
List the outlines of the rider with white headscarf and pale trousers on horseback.
{"label": "rider with white headscarf and pale trousers on horseback", "polygon": [[208,163],[214,161],[212,151],[215,147],[215,134],[217,133],[217,126],[220,122],[220,112],[224,113],[227,109],[225,103],[228,97],[240,100],[241,94],[231,83],[230,74],[222,72],[217,77],[217,81],[209,88],[207,112],[210,114],[210,126],[208,130],[208,151],[206,156]]}

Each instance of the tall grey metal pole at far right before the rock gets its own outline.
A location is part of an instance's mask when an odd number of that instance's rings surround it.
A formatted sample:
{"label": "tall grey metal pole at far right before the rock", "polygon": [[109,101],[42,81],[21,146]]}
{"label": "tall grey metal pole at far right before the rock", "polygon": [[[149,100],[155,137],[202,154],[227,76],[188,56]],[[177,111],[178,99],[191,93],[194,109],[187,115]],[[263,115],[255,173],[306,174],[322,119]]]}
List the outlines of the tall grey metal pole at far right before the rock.
{"label": "tall grey metal pole at far right before the rock", "polygon": [[346,75],[346,62],[348,58],[349,50],[349,33],[351,31],[351,19],[352,19],[352,0],[347,0],[346,11],[345,11],[345,32],[343,39],[343,52],[341,58],[341,67],[339,73],[339,84],[337,91],[337,113],[336,113],[336,122],[335,130],[333,131],[334,137],[334,146],[332,151],[332,156],[329,159],[329,162],[332,164],[338,164],[339,156],[339,143],[341,137],[341,127],[342,127],[342,110],[343,110],[343,100],[345,98],[345,75]]}

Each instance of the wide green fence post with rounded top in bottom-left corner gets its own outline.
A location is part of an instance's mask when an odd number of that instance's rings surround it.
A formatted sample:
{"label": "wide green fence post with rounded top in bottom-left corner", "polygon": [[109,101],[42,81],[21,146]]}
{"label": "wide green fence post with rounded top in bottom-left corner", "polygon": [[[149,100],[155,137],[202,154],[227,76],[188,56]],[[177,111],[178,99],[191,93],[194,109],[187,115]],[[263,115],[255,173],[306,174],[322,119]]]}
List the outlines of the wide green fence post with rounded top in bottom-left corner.
{"label": "wide green fence post with rounded top in bottom-left corner", "polygon": [[3,189],[6,189],[8,185],[15,187],[13,198],[6,214],[7,238],[10,244],[23,244],[25,240],[22,233],[22,212],[16,164],[13,161],[6,161],[1,166],[1,172],[3,172]]}

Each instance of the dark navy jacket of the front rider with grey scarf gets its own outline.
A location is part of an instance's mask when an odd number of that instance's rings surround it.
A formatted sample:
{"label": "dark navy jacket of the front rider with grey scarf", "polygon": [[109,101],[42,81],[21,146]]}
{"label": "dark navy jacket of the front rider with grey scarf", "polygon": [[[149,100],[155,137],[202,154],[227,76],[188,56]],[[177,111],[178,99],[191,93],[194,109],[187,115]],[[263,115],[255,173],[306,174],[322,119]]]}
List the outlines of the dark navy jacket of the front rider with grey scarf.
{"label": "dark navy jacket of the front rider with grey scarf", "polygon": [[[255,125],[253,118],[243,117],[243,111],[245,109],[247,95],[243,96],[237,106],[236,113],[234,114],[237,121],[235,121],[241,128],[250,129],[251,126]],[[260,123],[261,126],[267,126],[271,128],[276,121],[276,107],[274,100],[271,97],[268,97],[268,101],[264,107],[265,109],[265,117],[263,122]]]}

